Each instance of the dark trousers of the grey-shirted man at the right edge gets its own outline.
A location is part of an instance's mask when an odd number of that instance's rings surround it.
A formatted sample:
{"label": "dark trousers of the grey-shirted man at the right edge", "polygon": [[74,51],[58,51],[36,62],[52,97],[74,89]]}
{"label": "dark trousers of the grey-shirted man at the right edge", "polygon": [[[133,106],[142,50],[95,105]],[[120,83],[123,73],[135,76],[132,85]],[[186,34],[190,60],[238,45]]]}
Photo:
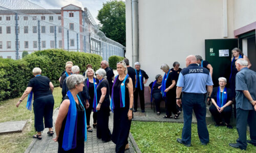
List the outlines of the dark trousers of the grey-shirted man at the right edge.
{"label": "dark trousers of the grey-shirted man at the right edge", "polygon": [[237,130],[238,136],[237,143],[240,147],[247,147],[246,130],[247,123],[250,128],[250,138],[254,145],[256,145],[256,112],[254,110],[237,109]]}

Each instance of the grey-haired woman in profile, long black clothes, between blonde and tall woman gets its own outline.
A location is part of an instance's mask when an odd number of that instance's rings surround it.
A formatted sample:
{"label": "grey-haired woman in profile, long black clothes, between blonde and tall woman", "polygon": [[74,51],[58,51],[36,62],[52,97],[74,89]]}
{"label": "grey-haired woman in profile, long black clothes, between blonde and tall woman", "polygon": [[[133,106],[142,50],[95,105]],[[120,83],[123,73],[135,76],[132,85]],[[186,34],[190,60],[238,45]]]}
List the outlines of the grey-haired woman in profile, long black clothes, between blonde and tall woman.
{"label": "grey-haired woman in profile, long black clothes, between blonde and tall woman", "polygon": [[104,142],[111,140],[111,133],[109,129],[109,115],[110,115],[110,89],[109,82],[106,79],[106,71],[102,68],[96,71],[96,77],[99,84],[96,89],[97,94],[97,138]]}

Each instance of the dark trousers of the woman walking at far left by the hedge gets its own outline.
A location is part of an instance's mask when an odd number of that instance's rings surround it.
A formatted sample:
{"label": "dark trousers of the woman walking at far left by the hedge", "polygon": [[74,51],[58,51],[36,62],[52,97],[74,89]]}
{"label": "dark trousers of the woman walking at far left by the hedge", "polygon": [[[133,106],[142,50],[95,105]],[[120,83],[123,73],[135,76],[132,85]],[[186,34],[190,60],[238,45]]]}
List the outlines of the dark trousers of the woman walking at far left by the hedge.
{"label": "dark trousers of the woman walking at far left by the hedge", "polygon": [[53,126],[53,106],[54,99],[52,94],[34,99],[35,131],[44,131],[43,118],[45,119],[45,128],[51,128]]}

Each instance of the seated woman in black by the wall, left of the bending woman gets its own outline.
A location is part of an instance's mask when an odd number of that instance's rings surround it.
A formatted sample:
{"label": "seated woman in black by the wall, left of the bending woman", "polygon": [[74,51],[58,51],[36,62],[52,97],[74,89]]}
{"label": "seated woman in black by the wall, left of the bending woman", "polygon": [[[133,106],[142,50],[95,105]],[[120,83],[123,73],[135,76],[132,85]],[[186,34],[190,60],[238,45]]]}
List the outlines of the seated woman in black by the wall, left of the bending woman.
{"label": "seated woman in black by the wall, left of the bending woman", "polygon": [[161,85],[163,77],[161,74],[156,75],[156,81],[150,84],[151,101],[155,100],[157,115],[160,115],[160,102],[163,99],[161,94]]}

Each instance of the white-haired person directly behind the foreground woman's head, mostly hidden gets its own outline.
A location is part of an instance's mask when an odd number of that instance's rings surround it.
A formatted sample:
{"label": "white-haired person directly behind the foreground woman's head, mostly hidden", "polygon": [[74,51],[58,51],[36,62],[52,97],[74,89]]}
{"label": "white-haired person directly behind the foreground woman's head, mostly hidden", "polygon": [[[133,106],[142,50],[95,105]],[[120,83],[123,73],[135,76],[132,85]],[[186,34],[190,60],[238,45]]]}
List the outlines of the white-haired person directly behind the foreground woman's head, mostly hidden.
{"label": "white-haired person directly behind the foreground woman's head, mostly hidden", "polygon": [[[71,74],[71,75],[76,75],[76,74],[80,73],[80,68],[77,65],[72,66],[71,70],[73,72],[73,74]],[[62,91],[61,91],[62,99],[65,97],[65,95],[69,91],[69,88],[67,86],[67,79],[68,78],[69,77],[65,78],[65,80],[63,81],[63,84],[62,84]],[[84,87],[83,87],[82,91],[78,93],[78,96],[80,97],[82,104],[84,106],[86,106],[86,108],[88,108],[89,107],[90,95],[89,95],[89,90],[88,90],[88,87],[87,87],[86,84],[84,84]]]}

